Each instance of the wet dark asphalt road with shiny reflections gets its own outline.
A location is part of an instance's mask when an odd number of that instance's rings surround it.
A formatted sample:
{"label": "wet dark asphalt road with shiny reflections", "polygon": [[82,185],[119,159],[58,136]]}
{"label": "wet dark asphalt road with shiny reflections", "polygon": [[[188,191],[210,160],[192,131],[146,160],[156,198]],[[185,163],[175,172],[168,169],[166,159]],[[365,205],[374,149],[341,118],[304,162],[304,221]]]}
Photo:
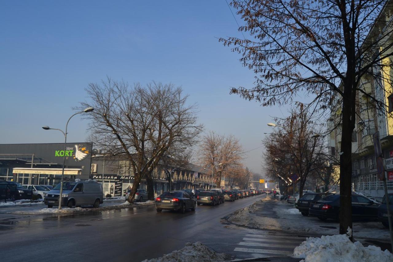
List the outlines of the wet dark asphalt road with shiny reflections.
{"label": "wet dark asphalt road with shiny reflections", "polygon": [[[263,195],[264,196],[264,195]],[[141,261],[200,241],[220,253],[248,258],[234,251],[245,234],[225,228],[220,219],[262,196],[201,205],[185,214],[153,206],[75,215],[0,214],[3,261]]]}

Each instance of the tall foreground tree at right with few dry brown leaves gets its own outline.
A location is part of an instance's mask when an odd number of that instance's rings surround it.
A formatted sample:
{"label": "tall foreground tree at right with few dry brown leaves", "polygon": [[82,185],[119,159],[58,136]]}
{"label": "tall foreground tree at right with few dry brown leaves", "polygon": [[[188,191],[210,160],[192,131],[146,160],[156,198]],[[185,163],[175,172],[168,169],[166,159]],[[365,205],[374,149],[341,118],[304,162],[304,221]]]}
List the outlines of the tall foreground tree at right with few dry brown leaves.
{"label": "tall foreground tree at right with few dry brown leaves", "polygon": [[[242,55],[256,74],[255,87],[232,93],[265,105],[311,97],[313,110],[329,109],[338,97],[342,108],[340,155],[340,234],[352,228],[351,141],[356,100],[362,94],[382,112],[384,99],[362,87],[366,78],[392,93],[391,0],[233,0],[250,39],[221,38]],[[352,236],[351,236],[352,239]]]}

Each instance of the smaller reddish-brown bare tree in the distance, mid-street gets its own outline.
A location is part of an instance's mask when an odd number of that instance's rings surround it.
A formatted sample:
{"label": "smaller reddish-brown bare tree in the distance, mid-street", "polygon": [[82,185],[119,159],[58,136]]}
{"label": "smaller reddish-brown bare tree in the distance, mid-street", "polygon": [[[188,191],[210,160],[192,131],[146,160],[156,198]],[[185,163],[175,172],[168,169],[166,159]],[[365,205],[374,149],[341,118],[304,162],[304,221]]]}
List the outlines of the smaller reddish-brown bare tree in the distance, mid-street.
{"label": "smaller reddish-brown bare tree in the distance, mid-street", "polygon": [[213,168],[213,172],[216,174],[217,187],[221,185],[222,172],[225,172],[228,168],[240,165],[243,155],[242,151],[239,140],[233,135],[225,137],[210,132],[202,138],[200,162],[204,166]]}

